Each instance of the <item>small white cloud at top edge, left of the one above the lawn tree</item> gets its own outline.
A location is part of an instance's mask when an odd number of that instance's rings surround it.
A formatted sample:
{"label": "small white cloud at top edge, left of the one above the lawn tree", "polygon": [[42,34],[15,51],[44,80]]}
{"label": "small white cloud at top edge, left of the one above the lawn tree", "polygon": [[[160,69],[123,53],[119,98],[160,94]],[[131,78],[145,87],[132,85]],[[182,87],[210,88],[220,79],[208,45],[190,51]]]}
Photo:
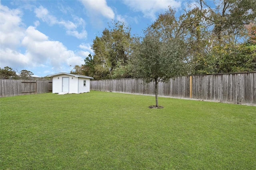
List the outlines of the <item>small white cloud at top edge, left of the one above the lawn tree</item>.
{"label": "small white cloud at top edge, left of the one above the lawn tree", "polygon": [[107,5],[106,0],[81,0],[81,2],[88,11],[88,14],[102,15],[110,19],[115,17],[112,8]]}

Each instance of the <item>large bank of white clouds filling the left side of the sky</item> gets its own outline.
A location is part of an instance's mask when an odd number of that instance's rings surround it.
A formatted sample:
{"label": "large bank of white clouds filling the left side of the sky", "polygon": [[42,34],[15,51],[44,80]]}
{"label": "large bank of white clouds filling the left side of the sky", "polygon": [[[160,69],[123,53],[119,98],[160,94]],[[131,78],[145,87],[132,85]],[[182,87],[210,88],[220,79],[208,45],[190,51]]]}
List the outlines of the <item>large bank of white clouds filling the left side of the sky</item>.
{"label": "large bank of white clouds filling the left side of the sky", "polygon": [[[1,68],[8,66],[18,70],[31,70],[39,67],[48,69],[50,66],[54,68],[53,72],[60,72],[69,71],[69,65],[84,63],[82,55],[68,50],[61,42],[50,41],[36,27],[28,26],[25,29],[21,19],[22,12],[19,10],[11,10],[2,5],[0,9]],[[34,24],[38,25],[38,22]]]}

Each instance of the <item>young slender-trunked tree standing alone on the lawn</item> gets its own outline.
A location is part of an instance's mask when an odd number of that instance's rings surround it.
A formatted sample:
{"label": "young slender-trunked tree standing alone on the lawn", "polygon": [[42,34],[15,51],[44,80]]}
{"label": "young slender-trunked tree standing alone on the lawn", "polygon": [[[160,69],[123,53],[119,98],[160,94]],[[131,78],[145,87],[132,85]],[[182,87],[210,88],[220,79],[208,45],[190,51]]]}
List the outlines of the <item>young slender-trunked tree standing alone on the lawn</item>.
{"label": "young slender-trunked tree standing alone on the lawn", "polygon": [[[168,23],[172,23],[172,26]],[[142,78],[145,83],[155,82],[156,107],[158,107],[158,83],[188,74],[186,44],[174,31],[178,30],[176,23],[173,10],[161,14],[145,31],[142,42],[137,42],[138,45],[133,53],[133,71],[136,77]]]}

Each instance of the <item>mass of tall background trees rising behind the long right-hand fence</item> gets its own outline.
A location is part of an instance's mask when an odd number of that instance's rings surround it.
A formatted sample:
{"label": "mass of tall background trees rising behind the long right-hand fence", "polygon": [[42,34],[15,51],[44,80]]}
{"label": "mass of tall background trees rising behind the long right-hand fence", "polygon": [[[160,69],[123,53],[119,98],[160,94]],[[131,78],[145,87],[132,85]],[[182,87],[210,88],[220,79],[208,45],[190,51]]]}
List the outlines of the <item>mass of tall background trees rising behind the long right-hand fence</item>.
{"label": "mass of tall background trees rising behind the long right-hand fence", "polygon": [[[213,1],[214,7],[210,3],[196,0],[179,17],[169,6],[145,28],[142,37],[132,36],[131,28],[124,23],[113,22],[96,36],[92,44],[94,53],[86,57],[85,64],[75,66],[74,71],[95,79],[138,77],[132,70],[138,67],[138,61],[133,57],[138,55],[140,48],[145,48],[143,54],[140,49],[142,56],[160,50],[157,62],[163,67],[170,52],[176,50],[176,53],[186,55],[186,61],[182,62],[190,67],[187,74],[256,71],[256,0],[219,0]],[[148,47],[150,43],[156,49]],[[182,50],[176,48],[176,44]],[[169,77],[169,72],[164,74]]]}

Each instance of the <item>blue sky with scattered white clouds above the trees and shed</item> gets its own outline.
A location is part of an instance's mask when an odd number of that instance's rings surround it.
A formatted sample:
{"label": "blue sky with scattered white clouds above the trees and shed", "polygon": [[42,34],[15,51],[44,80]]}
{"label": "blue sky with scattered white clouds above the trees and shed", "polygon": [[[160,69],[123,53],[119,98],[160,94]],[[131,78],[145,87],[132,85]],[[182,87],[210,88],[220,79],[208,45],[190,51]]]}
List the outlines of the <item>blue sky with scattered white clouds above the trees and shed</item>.
{"label": "blue sky with scattered white clouds above the trees and shed", "polygon": [[90,46],[108,23],[124,22],[132,34],[176,8],[181,14],[193,0],[1,0],[0,67],[26,69],[35,77],[69,73],[84,64]]}

